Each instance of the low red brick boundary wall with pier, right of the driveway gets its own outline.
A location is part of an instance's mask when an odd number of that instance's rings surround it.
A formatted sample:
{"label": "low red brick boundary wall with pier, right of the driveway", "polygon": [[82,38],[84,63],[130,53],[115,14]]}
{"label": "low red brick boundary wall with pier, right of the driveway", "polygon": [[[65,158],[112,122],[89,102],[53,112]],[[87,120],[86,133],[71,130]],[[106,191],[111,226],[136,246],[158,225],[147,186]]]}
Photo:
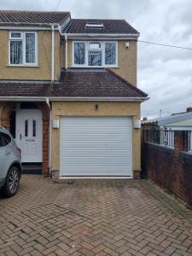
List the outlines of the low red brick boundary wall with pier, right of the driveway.
{"label": "low red brick boundary wall with pier, right of the driveway", "polygon": [[143,142],[143,173],[192,207],[192,154],[184,151],[183,131],[174,137],[175,148]]}

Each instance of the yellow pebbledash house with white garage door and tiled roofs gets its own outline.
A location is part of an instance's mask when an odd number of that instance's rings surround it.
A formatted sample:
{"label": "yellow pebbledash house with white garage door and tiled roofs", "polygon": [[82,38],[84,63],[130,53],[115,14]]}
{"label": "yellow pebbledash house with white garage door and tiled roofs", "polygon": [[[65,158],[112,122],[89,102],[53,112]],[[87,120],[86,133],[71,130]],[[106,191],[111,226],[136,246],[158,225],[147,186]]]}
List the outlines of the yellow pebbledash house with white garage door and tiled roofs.
{"label": "yellow pebbledash house with white garage door and tiled roofs", "polygon": [[125,20],[0,11],[0,125],[59,177],[139,177],[137,38]]}

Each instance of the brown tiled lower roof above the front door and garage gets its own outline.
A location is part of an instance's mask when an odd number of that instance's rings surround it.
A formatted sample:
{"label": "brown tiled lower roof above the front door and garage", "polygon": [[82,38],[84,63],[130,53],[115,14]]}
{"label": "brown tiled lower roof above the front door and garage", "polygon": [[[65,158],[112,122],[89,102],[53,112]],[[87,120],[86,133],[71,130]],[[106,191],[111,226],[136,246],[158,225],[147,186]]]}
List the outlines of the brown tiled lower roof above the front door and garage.
{"label": "brown tiled lower roof above the front door and garage", "polygon": [[147,94],[107,69],[69,69],[55,84],[1,82],[0,96],[145,98]]}

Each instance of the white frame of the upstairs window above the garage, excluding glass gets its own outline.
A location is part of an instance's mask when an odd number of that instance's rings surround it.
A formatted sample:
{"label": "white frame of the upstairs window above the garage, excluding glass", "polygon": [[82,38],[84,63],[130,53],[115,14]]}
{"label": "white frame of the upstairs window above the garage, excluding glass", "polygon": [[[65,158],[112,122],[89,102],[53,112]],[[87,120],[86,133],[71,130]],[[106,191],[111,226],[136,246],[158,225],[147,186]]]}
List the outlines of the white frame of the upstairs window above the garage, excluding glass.
{"label": "white frame of the upstairs window above the garage, excluding glass", "polygon": [[[84,43],[85,44],[85,63],[84,64],[75,64],[74,63],[74,44],[75,43]],[[101,49],[90,49],[90,43],[100,43]],[[116,63],[115,64],[105,64],[105,44],[106,43],[115,43],[116,44]],[[118,66],[118,41],[98,41],[98,40],[89,40],[89,41],[73,41],[72,45],[72,67],[119,67]],[[89,66],[89,51],[102,51],[102,65],[101,66]]]}

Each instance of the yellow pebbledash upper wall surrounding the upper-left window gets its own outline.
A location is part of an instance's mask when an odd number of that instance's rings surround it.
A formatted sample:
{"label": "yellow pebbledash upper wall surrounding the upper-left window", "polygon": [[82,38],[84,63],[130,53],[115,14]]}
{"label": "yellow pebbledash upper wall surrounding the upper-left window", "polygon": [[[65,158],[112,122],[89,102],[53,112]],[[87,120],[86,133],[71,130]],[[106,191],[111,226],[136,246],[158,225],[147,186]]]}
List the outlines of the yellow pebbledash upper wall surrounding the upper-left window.
{"label": "yellow pebbledash upper wall surrounding the upper-left window", "polygon": [[[9,66],[9,31],[0,31],[0,79],[51,80],[51,32],[38,31],[38,66]],[[61,37],[55,32],[55,80],[61,74]]]}

